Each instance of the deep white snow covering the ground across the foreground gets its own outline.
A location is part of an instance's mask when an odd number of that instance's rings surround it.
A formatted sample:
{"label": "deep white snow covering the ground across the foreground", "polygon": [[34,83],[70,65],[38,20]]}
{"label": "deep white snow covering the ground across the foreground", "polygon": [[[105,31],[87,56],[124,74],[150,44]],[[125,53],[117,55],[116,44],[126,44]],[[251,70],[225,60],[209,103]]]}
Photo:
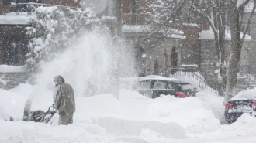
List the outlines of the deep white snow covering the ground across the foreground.
{"label": "deep white snow covering the ground across the foreground", "polygon": [[[244,114],[234,124],[223,121],[223,97],[199,92],[197,97],[150,99],[132,90],[76,97],[74,124],[22,121],[33,86],[0,90],[0,142],[255,142],[256,118]],[[47,94],[47,93],[45,93]],[[32,110],[47,110],[52,97],[37,96]],[[16,121],[5,121],[10,114]],[[4,117],[3,117],[4,116]]]}

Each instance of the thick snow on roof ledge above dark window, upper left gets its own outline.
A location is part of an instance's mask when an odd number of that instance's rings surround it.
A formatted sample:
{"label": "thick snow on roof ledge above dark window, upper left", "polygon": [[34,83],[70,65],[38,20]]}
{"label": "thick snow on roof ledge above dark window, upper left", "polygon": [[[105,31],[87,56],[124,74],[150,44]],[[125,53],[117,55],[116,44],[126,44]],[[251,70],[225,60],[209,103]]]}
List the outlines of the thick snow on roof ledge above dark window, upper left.
{"label": "thick snow on roof ledge above dark window, upper left", "polygon": [[29,22],[29,16],[26,13],[15,12],[7,13],[6,15],[0,15],[0,24],[19,24],[26,25]]}

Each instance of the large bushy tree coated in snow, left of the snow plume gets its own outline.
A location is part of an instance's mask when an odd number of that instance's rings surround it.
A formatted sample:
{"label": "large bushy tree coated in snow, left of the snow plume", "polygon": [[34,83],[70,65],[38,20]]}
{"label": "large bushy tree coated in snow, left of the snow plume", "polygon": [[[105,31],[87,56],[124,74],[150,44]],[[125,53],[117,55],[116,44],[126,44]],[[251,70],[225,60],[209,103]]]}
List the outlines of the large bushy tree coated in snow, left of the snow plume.
{"label": "large bushy tree coated in snow, left of the snow plume", "polygon": [[38,63],[70,47],[79,33],[99,28],[100,20],[89,9],[41,6],[28,24],[26,34],[30,40],[26,67],[31,76],[37,71]]}

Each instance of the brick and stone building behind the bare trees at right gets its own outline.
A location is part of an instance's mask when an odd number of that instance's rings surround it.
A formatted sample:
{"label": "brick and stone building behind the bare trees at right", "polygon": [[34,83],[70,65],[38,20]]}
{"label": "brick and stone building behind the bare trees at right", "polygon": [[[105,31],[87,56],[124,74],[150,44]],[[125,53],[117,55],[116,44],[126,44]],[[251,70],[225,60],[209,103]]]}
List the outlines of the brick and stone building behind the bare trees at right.
{"label": "brick and stone building behind the bare trees at right", "polygon": [[[145,23],[145,17],[142,14],[145,1],[129,0],[122,2],[123,36],[130,47],[136,51],[137,70],[140,76],[150,74],[168,76],[170,73],[169,66],[191,66],[200,71],[205,80],[216,88],[218,83],[218,75],[216,74],[218,58],[214,46],[213,32],[206,19],[200,17],[193,19],[196,17],[195,13],[187,11],[184,7],[181,12],[184,19],[184,26],[180,29],[182,34],[165,37],[161,46],[149,46],[145,43],[147,39],[144,37],[147,35],[147,30],[144,28],[147,23]],[[245,12],[245,17],[248,17],[246,15],[248,14]],[[251,26],[254,25],[251,24]],[[252,31],[253,29],[251,29]],[[249,33],[249,35],[251,34]],[[251,64],[255,59],[254,53],[248,52],[254,51],[254,40],[252,41],[249,35],[244,40],[240,65]],[[225,45],[227,47],[225,53],[228,57],[230,53],[230,30],[228,27]],[[252,66],[254,67],[254,65]]]}

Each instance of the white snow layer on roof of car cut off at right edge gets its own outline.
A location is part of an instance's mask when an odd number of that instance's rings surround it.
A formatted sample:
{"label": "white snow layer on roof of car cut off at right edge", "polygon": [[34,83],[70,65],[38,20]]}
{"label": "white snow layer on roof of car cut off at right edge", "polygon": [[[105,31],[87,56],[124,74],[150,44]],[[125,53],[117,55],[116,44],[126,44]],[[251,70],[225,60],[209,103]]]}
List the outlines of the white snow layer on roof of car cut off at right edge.
{"label": "white snow layer on roof of car cut off at right edge", "polygon": [[248,99],[256,100],[256,88],[240,91],[237,95],[235,95],[230,100],[248,100]]}

